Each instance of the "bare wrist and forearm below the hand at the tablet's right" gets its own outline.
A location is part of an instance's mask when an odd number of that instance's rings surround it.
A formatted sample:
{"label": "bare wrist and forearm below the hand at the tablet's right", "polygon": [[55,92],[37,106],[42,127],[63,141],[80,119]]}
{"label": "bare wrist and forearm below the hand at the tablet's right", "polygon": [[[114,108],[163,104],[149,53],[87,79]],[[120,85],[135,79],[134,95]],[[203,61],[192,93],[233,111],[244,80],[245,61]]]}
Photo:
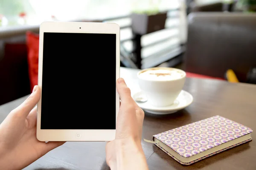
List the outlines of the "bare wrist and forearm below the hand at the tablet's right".
{"label": "bare wrist and forearm below the hand at the tablet's right", "polygon": [[148,170],[140,143],[116,141],[113,152],[108,161],[111,170]]}

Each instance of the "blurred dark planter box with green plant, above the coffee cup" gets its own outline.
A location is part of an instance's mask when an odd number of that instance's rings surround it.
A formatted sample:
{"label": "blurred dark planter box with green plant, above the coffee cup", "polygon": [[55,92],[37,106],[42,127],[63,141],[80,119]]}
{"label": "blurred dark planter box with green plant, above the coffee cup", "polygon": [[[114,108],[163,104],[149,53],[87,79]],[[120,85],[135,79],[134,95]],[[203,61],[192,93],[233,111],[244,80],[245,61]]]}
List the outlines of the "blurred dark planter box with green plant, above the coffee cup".
{"label": "blurred dark planter box with green plant, above the coffee cup", "polygon": [[167,12],[160,12],[159,4],[160,1],[151,3],[148,9],[134,10],[131,13],[132,30],[135,34],[143,35],[165,28]]}

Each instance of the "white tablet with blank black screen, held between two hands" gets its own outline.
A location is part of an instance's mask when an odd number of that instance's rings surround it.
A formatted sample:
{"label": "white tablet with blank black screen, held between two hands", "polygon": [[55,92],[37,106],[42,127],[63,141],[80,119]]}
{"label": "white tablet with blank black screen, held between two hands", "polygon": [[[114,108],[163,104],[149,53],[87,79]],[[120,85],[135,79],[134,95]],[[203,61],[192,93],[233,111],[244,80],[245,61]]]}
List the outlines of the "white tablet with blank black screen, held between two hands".
{"label": "white tablet with blank black screen, held between two hands", "polygon": [[115,23],[40,25],[39,141],[111,141],[119,111],[120,28]]}

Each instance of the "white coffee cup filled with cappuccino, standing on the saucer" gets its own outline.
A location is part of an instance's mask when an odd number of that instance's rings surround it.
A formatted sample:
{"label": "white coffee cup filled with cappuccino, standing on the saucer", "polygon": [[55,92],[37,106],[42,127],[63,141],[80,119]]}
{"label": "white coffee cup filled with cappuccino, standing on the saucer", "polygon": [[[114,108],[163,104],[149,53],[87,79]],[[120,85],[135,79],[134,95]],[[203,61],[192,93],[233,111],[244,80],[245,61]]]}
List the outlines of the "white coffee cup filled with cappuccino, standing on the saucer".
{"label": "white coffee cup filled with cappuccino, standing on the saucer", "polygon": [[140,89],[151,105],[164,107],[172,105],[180,94],[186,79],[186,72],[177,68],[146,68],[137,73]]}

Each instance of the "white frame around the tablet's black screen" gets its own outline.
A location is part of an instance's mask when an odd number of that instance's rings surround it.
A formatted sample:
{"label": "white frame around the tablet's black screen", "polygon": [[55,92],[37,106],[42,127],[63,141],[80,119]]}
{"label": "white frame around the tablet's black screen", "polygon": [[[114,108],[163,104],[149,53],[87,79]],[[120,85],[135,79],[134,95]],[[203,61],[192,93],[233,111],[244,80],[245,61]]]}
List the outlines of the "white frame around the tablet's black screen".
{"label": "white frame around the tablet's black screen", "polygon": [[[38,86],[42,87],[43,41],[44,32],[60,33],[102,33],[116,34],[116,80],[120,74],[120,28],[115,23],[87,22],[44,22],[39,33]],[[119,111],[119,94],[116,91],[116,118]],[[60,106],[56,106],[60,107]],[[84,108],[86,109],[86,108]],[[115,139],[116,130],[44,130],[41,129],[41,98],[38,102],[37,131],[39,141],[111,141]]]}

